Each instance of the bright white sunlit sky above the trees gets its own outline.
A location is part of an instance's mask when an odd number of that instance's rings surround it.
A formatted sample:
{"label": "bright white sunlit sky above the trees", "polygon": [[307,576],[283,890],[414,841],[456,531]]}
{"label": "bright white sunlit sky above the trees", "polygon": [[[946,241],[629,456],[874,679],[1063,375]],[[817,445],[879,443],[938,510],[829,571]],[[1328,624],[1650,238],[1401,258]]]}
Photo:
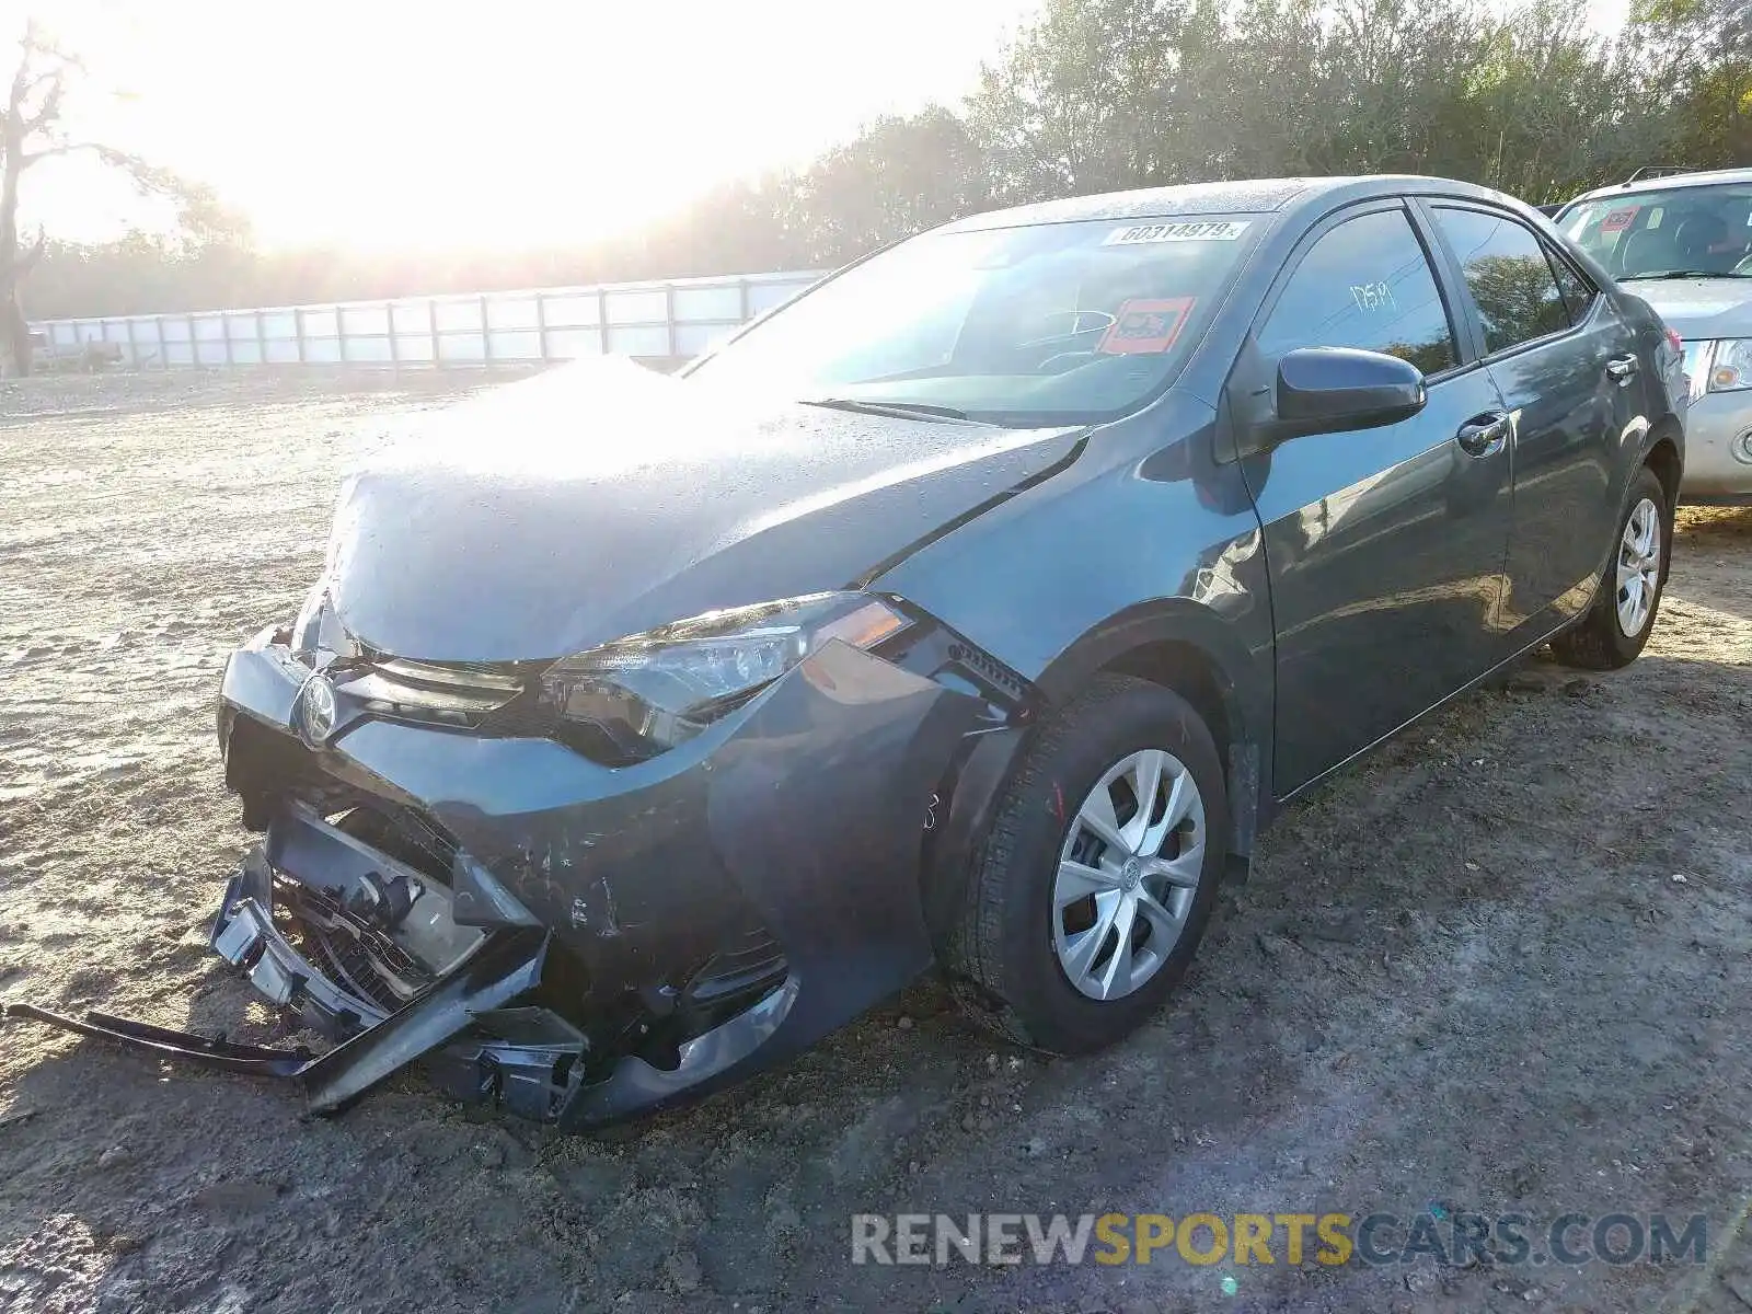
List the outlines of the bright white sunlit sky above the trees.
{"label": "bright white sunlit sky above the trees", "polygon": [[[1601,30],[1628,5],[1582,2]],[[955,103],[1037,4],[0,0],[0,35],[39,14],[89,67],[75,135],[208,182],[263,245],[442,251],[636,231]],[[170,215],[86,158],[32,170],[23,217]]]}

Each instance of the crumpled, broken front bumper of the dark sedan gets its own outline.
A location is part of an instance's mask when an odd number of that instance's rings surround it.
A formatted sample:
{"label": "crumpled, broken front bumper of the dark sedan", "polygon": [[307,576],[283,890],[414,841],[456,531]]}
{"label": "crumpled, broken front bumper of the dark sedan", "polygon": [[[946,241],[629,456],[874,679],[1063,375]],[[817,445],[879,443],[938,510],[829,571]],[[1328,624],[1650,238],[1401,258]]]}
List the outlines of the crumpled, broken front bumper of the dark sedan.
{"label": "crumpled, broken front bumper of the dark sedan", "polygon": [[[319,1113],[413,1060],[452,1095],[568,1128],[683,1102],[795,1055],[930,964],[920,862],[934,794],[999,711],[967,680],[834,643],[697,739],[606,767],[547,738],[385,720],[343,690],[333,732],[310,743],[294,729],[308,678],[272,632],[226,668],[228,783],[266,841],[231,880],[212,946],[340,1044],[298,1058],[102,1014],[30,1016],[289,1076]],[[356,906],[396,871],[324,820],[322,801],[340,797],[447,836],[456,922],[482,932],[394,1007],[275,918],[287,883]],[[725,929],[750,920],[781,955],[771,986],[673,1049],[641,1048],[639,1018],[661,1023],[689,974],[725,957]]]}

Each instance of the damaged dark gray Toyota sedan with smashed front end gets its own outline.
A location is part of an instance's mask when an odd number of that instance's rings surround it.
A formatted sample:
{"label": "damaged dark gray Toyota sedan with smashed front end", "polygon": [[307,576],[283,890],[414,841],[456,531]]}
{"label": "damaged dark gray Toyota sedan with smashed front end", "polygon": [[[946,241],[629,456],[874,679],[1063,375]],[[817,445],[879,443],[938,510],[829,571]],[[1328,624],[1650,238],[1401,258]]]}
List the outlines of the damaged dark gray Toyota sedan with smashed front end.
{"label": "damaged dark gray Toyota sedan with smashed front end", "polygon": [[1656,622],[1685,384],[1526,207],[1127,193],[901,244],[683,377],[576,364],[352,475],[224,673],[214,948],[321,1056],[582,1128],[939,965],[1088,1051],[1279,806],[1542,643]]}

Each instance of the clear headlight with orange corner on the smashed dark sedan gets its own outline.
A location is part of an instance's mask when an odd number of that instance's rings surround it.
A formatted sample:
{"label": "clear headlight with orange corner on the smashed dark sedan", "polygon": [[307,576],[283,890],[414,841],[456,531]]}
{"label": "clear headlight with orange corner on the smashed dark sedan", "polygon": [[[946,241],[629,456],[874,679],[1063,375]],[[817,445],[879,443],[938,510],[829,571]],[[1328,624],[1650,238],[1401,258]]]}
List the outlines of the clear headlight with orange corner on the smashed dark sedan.
{"label": "clear headlight with orange corner on the smashed dark sedan", "polygon": [[872,648],[908,624],[858,592],[708,611],[555,662],[541,676],[541,701],[564,725],[606,736],[603,748],[615,757],[650,757],[694,738],[827,643]]}

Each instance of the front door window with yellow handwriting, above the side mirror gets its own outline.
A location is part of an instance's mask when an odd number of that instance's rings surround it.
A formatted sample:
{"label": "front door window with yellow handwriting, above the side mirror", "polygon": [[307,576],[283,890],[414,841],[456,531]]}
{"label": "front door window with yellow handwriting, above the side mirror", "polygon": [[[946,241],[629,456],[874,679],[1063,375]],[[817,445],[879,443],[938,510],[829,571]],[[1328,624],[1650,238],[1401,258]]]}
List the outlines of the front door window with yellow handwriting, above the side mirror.
{"label": "front door window with yellow handwriting, above the side mirror", "polygon": [[1459,359],[1430,259],[1403,210],[1347,219],[1309,247],[1258,342],[1267,356],[1361,347],[1426,375]]}

